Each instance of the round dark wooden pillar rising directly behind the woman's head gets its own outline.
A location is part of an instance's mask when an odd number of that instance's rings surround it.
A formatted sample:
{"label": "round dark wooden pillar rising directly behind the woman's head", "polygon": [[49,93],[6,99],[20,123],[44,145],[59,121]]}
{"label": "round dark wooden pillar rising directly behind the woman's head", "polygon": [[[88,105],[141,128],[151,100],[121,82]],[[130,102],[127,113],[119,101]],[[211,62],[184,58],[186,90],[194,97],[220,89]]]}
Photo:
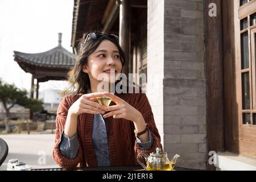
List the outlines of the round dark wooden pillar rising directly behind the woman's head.
{"label": "round dark wooden pillar rising directly behind the woman's head", "polygon": [[131,9],[130,0],[122,0],[119,13],[119,43],[125,51],[126,64],[122,68],[122,73],[125,73],[128,78],[130,67],[130,49],[131,49]]}

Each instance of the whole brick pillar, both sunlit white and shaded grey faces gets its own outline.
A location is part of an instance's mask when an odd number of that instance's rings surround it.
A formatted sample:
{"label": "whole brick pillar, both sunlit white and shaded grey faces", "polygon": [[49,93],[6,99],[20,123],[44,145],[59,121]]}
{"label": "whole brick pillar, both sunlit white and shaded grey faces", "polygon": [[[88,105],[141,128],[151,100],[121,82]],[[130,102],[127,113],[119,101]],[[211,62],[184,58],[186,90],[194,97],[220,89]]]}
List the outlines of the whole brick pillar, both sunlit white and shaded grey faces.
{"label": "whole brick pillar, both sunlit white and shaded grey faces", "polygon": [[162,84],[158,102],[149,100],[164,151],[179,153],[179,166],[205,169],[203,0],[148,0],[147,69]]}

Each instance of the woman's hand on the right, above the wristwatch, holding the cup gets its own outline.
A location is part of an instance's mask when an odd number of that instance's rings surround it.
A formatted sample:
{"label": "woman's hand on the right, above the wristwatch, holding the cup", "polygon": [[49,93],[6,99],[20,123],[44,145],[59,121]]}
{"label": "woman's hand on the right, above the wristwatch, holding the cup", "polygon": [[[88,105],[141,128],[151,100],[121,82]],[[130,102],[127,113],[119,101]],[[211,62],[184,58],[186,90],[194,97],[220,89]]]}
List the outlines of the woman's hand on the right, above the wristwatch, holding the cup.
{"label": "woman's hand on the right, above the wristwatch, holding the cup", "polygon": [[104,118],[108,118],[113,115],[113,118],[123,118],[133,122],[139,121],[142,119],[142,114],[133,106],[128,104],[126,101],[122,100],[121,98],[115,96],[114,94],[105,92],[105,96],[108,96],[115,102],[114,106],[108,106],[107,110],[110,111],[109,113],[103,115]]}

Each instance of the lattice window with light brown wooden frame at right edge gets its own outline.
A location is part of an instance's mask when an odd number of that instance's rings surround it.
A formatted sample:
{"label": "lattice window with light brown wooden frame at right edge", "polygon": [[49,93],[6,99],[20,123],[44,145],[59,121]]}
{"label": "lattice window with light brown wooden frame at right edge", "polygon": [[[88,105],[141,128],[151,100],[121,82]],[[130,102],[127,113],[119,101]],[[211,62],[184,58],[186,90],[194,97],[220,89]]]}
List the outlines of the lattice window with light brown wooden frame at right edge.
{"label": "lattice window with light brown wooden frame at right edge", "polygon": [[[240,0],[240,154],[256,157],[256,0]],[[253,151],[254,150],[254,151]]]}

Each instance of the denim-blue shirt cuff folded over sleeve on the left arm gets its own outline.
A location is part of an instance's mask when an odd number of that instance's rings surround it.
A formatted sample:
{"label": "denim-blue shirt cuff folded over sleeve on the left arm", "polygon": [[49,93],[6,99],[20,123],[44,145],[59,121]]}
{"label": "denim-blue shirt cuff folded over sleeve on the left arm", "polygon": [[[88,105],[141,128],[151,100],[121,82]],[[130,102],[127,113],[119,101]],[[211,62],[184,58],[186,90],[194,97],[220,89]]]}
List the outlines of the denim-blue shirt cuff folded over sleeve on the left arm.
{"label": "denim-blue shirt cuff folded over sleeve on the left arm", "polygon": [[66,158],[76,158],[77,151],[80,147],[79,140],[77,139],[77,133],[74,135],[73,138],[68,138],[63,132],[61,135],[59,147],[61,154],[64,155]]}

